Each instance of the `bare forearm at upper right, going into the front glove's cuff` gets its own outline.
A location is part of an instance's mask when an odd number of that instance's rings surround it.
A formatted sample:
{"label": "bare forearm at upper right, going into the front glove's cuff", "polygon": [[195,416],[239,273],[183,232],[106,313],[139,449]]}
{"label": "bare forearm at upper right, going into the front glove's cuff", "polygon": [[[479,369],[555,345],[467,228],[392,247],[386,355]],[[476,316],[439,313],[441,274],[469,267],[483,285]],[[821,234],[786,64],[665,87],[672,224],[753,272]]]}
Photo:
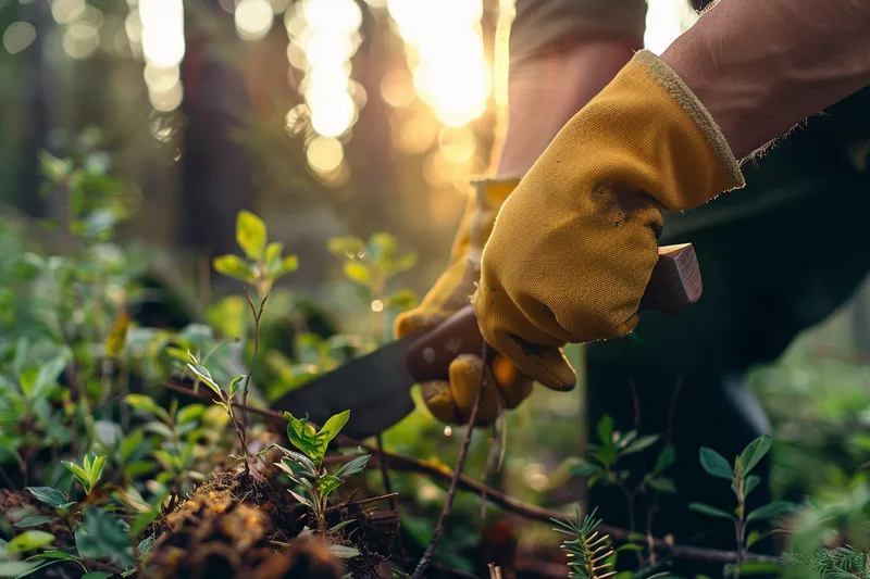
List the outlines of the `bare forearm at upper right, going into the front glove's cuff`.
{"label": "bare forearm at upper right, going into the front glove's cuff", "polygon": [[744,158],[870,84],[870,0],[721,0],[662,54]]}

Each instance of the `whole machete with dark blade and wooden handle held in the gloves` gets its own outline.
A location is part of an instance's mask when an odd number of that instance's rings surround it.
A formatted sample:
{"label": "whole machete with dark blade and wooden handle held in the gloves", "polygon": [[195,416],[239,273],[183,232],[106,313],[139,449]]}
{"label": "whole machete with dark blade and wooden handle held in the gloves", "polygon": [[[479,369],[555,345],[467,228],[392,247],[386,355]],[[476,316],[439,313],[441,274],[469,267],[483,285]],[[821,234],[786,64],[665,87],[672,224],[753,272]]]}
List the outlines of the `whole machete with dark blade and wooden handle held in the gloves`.
{"label": "whole machete with dark blade and wooden handle held in the gloves", "polygon": [[[659,249],[659,261],[641,301],[642,311],[674,314],[698,301],[703,291],[695,249],[691,243]],[[345,432],[358,440],[378,435],[411,411],[413,385],[447,380],[458,355],[478,354],[483,338],[471,305],[435,328],[396,340],[351,360],[288,392],[272,410],[308,414],[314,424],[350,410]]]}

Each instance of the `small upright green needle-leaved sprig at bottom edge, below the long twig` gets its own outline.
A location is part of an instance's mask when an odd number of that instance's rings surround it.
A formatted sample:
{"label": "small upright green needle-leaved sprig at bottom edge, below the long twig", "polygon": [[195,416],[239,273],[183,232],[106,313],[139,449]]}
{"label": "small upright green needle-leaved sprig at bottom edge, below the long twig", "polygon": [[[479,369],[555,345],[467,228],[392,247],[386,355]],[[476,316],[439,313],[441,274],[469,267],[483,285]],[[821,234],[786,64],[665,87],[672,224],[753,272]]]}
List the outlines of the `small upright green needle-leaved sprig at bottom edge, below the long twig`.
{"label": "small upright green needle-leaved sprig at bottom edge, below the long twig", "polygon": [[557,525],[552,530],[573,537],[562,542],[571,559],[568,563],[570,579],[608,579],[617,575],[610,536],[597,530],[601,521],[595,518],[596,511],[597,507],[581,519],[577,506],[574,520],[550,519]]}

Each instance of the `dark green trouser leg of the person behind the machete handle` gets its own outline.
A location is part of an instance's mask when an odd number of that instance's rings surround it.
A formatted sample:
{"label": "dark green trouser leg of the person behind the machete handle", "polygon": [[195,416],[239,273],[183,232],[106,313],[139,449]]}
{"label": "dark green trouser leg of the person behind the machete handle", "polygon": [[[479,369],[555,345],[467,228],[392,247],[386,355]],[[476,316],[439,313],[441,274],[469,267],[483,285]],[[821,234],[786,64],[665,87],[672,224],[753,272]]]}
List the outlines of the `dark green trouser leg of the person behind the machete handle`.
{"label": "dark green trouser leg of the person behind the machete handle", "polygon": [[[868,96],[865,90],[830,116],[815,117],[757,164],[747,164],[745,189],[666,217],[662,243],[695,246],[701,300],[674,317],[644,314],[631,338],[587,349],[591,426],[609,414],[626,430],[639,415],[643,432],[671,429],[679,494],[659,501],[657,534],[734,547],[726,521],[687,509],[689,502],[734,507],[728,483],[700,468],[699,449],[731,458],[768,431],[763,412],[744,389],[745,372],[780,356],[796,333],[842,305],[870,269],[870,176],[849,161],[841,130],[856,126],[850,109],[866,106]],[[649,467],[654,460],[650,453],[633,466]],[[767,480],[769,469],[766,462],[755,474]],[[767,484],[750,499],[754,505],[768,502]],[[627,525],[620,493],[597,488],[591,500],[610,523]],[[754,549],[759,546],[772,545]],[[689,566],[682,576],[714,571]]]}

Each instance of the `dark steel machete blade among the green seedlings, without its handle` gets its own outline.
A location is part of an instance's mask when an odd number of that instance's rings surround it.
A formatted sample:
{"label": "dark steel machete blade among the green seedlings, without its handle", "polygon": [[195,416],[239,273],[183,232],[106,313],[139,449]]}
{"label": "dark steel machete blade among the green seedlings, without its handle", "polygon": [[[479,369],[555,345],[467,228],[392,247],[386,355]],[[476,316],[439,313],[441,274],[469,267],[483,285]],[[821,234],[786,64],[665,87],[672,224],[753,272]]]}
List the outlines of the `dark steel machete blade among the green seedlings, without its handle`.
{"label": "dark steel machete blade among the green seedlings, without its handle", "polygon": [[380,435],[414,410],[414,379],[405,362],[412,341],[407,337],[351,360],[288,392],[272,408],[297,417],[308,414],[318,425],[349,410],[344,433],[356,439]]}

